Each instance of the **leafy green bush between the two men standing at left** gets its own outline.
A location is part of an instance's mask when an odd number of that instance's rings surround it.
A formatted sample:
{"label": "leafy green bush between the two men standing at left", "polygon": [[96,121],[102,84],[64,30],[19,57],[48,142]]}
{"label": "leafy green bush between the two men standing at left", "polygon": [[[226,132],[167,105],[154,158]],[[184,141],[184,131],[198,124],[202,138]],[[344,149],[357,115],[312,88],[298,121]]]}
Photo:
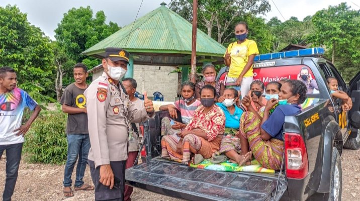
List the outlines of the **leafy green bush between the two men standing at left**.
{"label": "leafy green bush between the two men standing at left", "polygon": [[66,115],[60,105],[55,111],[41,111],[25,135],[25,160],[32,163],[64,164],[67,157]]}

